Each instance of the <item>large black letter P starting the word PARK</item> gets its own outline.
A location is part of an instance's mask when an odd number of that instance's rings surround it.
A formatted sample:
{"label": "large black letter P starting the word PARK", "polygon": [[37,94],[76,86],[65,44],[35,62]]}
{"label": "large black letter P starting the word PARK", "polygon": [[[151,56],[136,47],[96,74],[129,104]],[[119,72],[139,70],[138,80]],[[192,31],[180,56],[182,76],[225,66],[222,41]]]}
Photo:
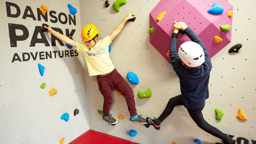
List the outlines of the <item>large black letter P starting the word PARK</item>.
{"label": "large black letter P starting the word PARK", "polygon": [[[8,27],[11,47],[17,47],[17,41],[24,41],[28,38],[28,29],[24,25],[8,23]],[[17,36],[16,29],[22,30],[23,35]]]}

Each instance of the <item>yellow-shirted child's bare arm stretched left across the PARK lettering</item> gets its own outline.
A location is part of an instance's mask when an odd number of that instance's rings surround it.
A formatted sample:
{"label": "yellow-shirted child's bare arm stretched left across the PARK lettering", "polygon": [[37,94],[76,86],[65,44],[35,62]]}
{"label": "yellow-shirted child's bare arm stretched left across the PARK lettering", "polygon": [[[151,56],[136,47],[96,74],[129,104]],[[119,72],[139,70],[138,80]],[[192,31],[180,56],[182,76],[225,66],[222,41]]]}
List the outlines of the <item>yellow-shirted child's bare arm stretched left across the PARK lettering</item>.
{"label": "yellow-shirted child's bare arm stretched left across the PARK lettering", "polygon": [[60,39],[62,42],[72,45],[76,48],[76,41],[71,40],[68,36],[64,36],[58,32],[56,32],[55,30],[53,30],[50,26],[46,27],[44,26],[44,28],[48,29],[48,32],[50,34],[52,34],[53,36],[57,37],[58,39]]}

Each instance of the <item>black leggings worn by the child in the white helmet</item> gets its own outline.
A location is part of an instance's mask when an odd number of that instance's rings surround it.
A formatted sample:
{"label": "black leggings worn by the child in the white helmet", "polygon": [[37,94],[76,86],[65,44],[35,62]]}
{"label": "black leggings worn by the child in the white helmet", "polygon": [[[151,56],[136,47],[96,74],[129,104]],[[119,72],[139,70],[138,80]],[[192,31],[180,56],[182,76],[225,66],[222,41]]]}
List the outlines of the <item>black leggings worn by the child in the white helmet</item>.
{"label": "black leggings worn by the child in the white helmet", "polygon": [[[161,114],[161,116],[158,117],[158,119],[160,121],[163,121],[167,116],[169,116],[171,114],[171,112],[175,106],[180,106],[180,105],[182,105],[181,95],[171,98],[168,101],[168,104],[167,104],[166,108],[164,109],[163,113]],[[208,133],[212,134],[213,136],[220,138],[221,140],[227,141],[228,136],[226,134],[222,133],[220,130],[218,130],[217,128],[208,124],[204,120],[204,116],[202,114],[203,108],[198,108],[198,109],[189,109],[188,108],[188,113],[191,116],[191,118],[194,120],[194,122],[197,124],[197,126],[199,126],[201,129],[203,129],[205,132],[208,132]],[[233,141],[230,141],[230,143],[232,143]]]}

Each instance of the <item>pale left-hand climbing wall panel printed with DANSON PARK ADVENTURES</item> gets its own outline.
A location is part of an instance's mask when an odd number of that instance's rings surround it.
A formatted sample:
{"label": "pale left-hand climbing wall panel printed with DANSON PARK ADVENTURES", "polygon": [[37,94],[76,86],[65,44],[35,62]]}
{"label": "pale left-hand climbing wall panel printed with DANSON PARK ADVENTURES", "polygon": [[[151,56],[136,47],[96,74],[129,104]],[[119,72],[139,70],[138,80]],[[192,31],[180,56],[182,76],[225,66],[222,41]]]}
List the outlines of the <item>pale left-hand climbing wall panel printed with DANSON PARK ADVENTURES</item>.
{"label": "pale left-hand climbing wall panel printed with DANSON PARK ADVENTURES", "polygon": [[[45,15],[39,9],[43,4]],[[77,9],[75,15],[68,4]],[[1,1],[0,9],[0,143],[52,144],[62,137],[69,143],[90,129],[84,57],[41,26],[80,39],[79,1],[10,0]],[[44,66],[43,76],[38,63]],[[57,93],[50,96],[52,88]],[[60,119],[64,113],[67,122]]]}

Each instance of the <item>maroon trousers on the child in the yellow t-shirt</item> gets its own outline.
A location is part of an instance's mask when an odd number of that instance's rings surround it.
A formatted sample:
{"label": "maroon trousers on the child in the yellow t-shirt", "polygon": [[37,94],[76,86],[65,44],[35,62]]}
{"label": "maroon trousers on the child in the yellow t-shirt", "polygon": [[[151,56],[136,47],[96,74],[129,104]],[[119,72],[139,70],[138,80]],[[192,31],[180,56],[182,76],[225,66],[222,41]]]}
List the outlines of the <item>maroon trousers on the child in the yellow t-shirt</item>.
{"label": "maroon trousers on the child in the yellow t-shirt", "polygon": [[113,103],[112,90],[115,88],[124,96],[131,116],[136,116],[133,90],[124,78],[114,69],[108,75],[98,75],[97,82],[100,93],[104,97],[103,116],[109,116],[110,106]]}

